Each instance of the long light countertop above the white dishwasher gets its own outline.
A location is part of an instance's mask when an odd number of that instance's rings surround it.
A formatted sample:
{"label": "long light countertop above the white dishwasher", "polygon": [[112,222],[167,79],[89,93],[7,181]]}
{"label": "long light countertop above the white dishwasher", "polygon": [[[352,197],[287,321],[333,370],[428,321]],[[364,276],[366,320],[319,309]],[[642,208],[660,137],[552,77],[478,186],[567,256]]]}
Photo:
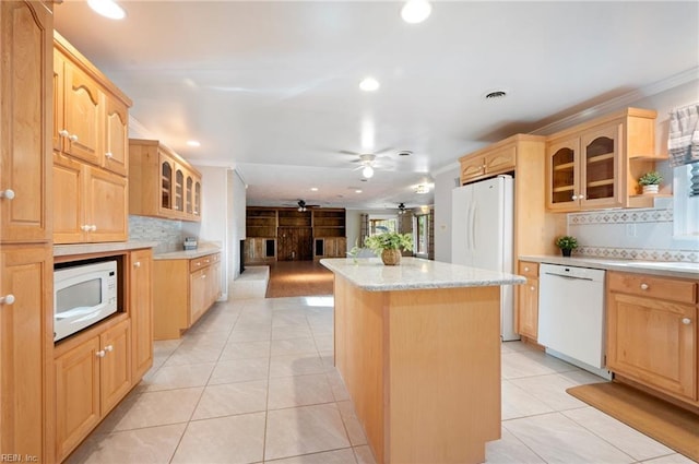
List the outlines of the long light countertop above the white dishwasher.
{"label": "long light countertop above the white dishwasher", "polygon": [[699,263],[691,262],[615,260],[587,257],[564,258],[559,255],[521,255],[519,259],[520,261],[533,261],[547,264],[699,279]]}

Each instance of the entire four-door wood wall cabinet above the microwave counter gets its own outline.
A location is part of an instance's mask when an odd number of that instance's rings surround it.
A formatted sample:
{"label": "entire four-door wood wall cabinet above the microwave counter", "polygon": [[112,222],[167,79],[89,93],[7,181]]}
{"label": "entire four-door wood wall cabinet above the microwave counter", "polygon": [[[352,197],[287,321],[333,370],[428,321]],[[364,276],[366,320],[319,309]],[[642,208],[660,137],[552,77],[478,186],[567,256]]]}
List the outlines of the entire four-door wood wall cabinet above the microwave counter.
{"label": "entire four-door wood wall cabinet above the microwave counter", "polygon": [[54,242],[125,241],[131,100],[54,33]]}

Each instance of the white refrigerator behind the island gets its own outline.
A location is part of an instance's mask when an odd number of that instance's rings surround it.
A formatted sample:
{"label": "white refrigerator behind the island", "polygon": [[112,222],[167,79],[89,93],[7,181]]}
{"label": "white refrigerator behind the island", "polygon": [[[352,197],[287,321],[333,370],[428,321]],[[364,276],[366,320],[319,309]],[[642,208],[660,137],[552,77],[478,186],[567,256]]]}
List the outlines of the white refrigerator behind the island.
{"label": "white refrigerator behind the island", "polygon": [[[451,195],[451,262],[512,273],[514,179],[498,176],[457,187]],[[500,286],[500,336],[514,332],[514,289]]]}

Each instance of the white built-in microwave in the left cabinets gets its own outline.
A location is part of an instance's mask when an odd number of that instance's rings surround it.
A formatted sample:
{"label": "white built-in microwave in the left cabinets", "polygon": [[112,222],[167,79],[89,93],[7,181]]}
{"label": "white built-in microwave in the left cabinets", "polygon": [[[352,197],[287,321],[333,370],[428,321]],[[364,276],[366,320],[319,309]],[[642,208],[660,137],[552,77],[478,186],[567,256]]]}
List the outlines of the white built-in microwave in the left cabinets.
{"label": "white built-in microwave in the left cabinets", "polygon": [[54,271],[54,341],[80,332],[116,311],[116,261]]}

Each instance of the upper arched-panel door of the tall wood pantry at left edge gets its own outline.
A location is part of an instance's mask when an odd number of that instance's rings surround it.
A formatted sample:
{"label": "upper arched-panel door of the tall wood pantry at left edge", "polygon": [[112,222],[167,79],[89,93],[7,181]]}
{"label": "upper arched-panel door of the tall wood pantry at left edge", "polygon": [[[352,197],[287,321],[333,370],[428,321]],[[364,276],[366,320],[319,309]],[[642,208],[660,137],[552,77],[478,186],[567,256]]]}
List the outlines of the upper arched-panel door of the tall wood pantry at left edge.
{"label": "upper arched-panel door of the tall wood pantry at left edge", "polygon": [[38,2],[0,4],[0,242],[43,242],[50,239],[52,16]]}

